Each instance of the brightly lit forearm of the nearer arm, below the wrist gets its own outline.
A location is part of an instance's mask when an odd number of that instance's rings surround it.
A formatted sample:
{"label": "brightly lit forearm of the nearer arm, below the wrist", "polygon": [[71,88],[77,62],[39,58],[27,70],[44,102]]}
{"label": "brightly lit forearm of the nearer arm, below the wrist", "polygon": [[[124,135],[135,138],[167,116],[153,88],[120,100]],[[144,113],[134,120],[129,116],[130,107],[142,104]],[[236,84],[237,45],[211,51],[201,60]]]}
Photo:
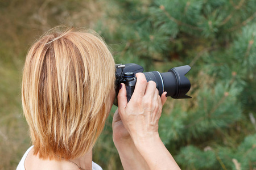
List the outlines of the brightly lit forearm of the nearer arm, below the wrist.
{"label": "brightly lit forearm of the nearer arm, below the wrist", "polygon": [[134,143],[150,169],[180,169],[159,135],[147,139],[135,139]]}

